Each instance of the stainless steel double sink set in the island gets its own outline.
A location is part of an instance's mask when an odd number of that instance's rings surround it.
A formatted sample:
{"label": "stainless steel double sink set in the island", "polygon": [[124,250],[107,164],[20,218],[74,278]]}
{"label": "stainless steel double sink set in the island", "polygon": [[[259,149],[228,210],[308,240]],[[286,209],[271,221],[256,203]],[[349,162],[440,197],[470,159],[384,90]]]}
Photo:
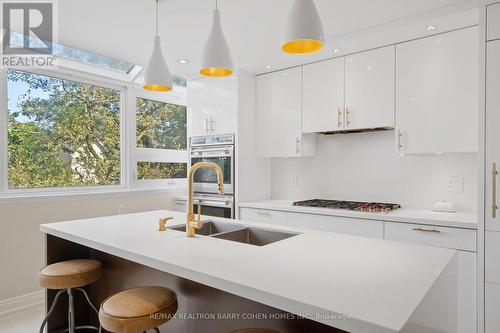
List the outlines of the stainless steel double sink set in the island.
{"label": "stainless steel double sink set in the island", "polygon": [[[186,232],[185,225],[171,227],[170,229]],[[196,230],[196,234],[255,246],[264,246],[299,235],[293,232],[246,227],[233,223],[214,221],[205,221],[203,227]]]}

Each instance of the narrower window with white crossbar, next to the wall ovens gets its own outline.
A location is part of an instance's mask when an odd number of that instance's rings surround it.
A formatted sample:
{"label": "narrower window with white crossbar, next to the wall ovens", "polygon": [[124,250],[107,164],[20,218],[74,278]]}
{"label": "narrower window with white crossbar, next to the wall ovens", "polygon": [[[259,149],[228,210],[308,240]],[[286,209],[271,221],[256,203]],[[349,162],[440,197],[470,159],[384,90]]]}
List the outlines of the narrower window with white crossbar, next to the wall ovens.
{"label": "narrower window with white crossbar, next to the wall ovens", "polygon": [[187,108],[180,100],[140,94],[135,99],[133,183],[161,184],[187,177]]}

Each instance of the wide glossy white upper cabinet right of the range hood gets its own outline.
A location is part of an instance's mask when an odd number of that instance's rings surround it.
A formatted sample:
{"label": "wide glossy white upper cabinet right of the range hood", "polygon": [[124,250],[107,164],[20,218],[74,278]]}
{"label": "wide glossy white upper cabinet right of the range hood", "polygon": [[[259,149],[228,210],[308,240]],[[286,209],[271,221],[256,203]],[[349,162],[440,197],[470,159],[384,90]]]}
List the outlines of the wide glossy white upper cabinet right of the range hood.
{"label": "wide glossy white upper cabinet right of the range hood", "polygon": [[397,45],[399,152],[477,151],[478,38],[472,27]]}

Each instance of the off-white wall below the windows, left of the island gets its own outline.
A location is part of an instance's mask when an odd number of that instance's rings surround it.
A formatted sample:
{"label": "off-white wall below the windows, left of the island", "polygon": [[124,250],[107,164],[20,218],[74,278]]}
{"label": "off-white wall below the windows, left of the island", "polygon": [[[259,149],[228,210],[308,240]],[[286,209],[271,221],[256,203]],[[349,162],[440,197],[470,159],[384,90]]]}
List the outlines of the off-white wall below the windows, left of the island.
{"label": "off-white wall below the windows, left of the island", "polygon": [[0,201],[0,301],[40,290],[38,271],[45,262],[40,224],[115,215],[119,205],[125,206],[125,213],[173,209],[176,194],[129,192]]}

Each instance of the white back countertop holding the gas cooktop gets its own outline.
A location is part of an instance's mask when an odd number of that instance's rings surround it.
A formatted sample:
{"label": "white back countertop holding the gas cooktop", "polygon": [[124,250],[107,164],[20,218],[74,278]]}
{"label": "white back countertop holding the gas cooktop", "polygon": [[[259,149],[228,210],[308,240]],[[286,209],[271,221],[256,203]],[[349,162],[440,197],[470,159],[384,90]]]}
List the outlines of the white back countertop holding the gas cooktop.
{"label": "white back countertop holding the gas cooktop", "polygon": [[[292,200],[260,200],[241,202],[239,207],[477,229],[477,215],[475,213],[442,213],[412,208],[400,208],[388,213],[371,213],[344,209],[293,206],[292,203]],[[311,227],[313,228],[313,226]]]}

